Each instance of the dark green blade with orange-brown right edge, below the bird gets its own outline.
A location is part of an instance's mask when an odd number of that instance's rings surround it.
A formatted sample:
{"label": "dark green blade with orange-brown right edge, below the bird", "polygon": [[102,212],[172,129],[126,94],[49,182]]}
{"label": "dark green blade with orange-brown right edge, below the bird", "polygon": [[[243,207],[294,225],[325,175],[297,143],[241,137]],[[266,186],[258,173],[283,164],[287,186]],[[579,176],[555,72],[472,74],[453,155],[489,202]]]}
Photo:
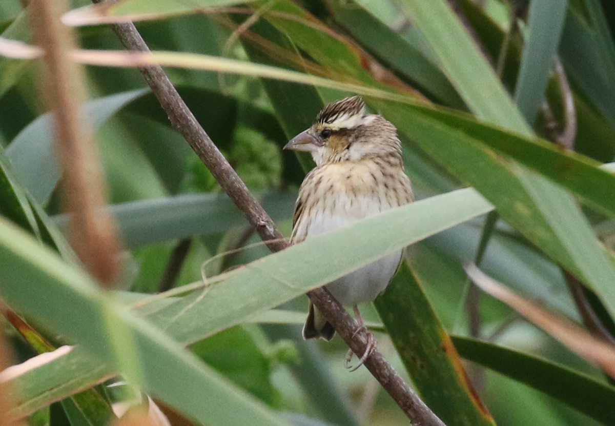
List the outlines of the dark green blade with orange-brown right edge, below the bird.
{"label": "dark green blade with orange-brown right edge, below the bird", "polygon": [[407,262],[375,303],[413,382],[438,417],[447,425],[493,426]]}

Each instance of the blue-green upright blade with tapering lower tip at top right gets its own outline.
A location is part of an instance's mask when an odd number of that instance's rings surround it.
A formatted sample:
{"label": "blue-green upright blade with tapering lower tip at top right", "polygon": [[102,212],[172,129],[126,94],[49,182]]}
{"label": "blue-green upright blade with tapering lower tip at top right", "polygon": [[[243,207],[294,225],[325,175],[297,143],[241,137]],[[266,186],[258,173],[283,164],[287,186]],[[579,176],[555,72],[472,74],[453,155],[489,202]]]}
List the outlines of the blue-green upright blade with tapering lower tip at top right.
{"label": "blue-green upright blade with tapering lower tip at top right", "polygon": [[528,38],[523,47],[521,70],[515,89],[515,102],[528,123],[534,123],[544,102],[568,1],[532,0],[528,19]]}

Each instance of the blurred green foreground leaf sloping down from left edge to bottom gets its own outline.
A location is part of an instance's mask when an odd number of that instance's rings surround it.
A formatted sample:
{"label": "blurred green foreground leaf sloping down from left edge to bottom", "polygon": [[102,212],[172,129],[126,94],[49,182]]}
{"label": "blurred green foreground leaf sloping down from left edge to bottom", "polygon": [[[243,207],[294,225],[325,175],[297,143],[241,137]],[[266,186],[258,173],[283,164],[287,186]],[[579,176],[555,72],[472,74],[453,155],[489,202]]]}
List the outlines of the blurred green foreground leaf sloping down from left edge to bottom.
{"label": "blurred green foreground leaf sloping down from left edge to bottom", "polygon": [[4,220],[0,228],[0,292],[9,305],[186,416],[211,425],[286,424],[23,231]]}

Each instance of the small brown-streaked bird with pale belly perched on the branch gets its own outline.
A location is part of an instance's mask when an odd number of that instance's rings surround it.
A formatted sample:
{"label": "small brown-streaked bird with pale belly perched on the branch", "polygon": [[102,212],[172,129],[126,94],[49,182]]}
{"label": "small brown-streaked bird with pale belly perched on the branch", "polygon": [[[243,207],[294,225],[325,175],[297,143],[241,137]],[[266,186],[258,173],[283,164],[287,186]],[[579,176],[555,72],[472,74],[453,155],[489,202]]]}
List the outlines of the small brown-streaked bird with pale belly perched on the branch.
{"label": "small brown-streaked bird with pale belly perched on the branch", "polygon": [[[316,163],[301,183],[293,215],[292,244],[413,201],[410,179],[403,171],[397,129],[383,116],[368,115],[359,96],[325,106],[315,123],[284,149],[308,151]],[[366,236],[365,244],[369,244],[369,238]],[[384,291],[395,275],[402,252],[386,255],[327,284],[342,305],[354,308],[361,326],[357,303],[372,301]],[[331,340],[334,334],[333,326],[310,303],[304,339]],[[370,344],[359,366],[375,346],[375,339],[369,336]]]}

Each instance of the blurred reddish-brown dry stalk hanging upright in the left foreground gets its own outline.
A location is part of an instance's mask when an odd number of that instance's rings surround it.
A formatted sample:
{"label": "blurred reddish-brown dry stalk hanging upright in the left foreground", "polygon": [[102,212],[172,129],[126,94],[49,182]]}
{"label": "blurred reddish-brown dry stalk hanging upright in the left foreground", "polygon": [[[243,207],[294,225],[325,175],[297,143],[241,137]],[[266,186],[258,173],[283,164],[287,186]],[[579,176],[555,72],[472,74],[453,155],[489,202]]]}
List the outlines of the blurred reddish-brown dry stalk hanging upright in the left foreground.
{"label": "blurred reddish-brown dry stalk hanging upright in the left foreground", "polygon": [[60,16],[65,1],[33,0],[30,20],[34,37],[44,51],[41,92],[54,113],[56,149],[64,169],[63,203],[70,212],[69,239],[90,273],[111,284],[119,273],[119,239],[105,206],[105,185],[80,105],[85,98],[82,70],[69,60],[74,50],[71,30]]}

